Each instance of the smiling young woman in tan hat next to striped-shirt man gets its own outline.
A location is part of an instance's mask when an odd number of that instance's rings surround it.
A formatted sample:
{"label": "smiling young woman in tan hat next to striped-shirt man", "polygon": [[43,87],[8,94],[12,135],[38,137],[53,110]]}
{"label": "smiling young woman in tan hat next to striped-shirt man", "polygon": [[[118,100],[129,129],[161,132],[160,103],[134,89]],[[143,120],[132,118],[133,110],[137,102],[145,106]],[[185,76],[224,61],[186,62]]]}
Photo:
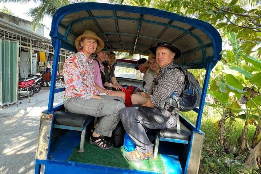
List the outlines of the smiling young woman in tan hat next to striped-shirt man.
{"label": "smiling young woman in tan hat next to striped-shirt man", "polygon": [[[157,77],[159,75],[160,67],[159,64],[156,61],[156,56],[153,55],[152,53],[149,54],[149,58],[147,62],[143,64],[144,67],[150,67],[151,70],[155,71],[157,74]],[[154,79],[156,81],[156,78]],[[151,89],[152,90],[152,89]],[[140,94],[133,94],[131,95],[131,103],[132,104],[143,104],[145,103],[151,94],[152,91],[148,92],[141,92]]]}

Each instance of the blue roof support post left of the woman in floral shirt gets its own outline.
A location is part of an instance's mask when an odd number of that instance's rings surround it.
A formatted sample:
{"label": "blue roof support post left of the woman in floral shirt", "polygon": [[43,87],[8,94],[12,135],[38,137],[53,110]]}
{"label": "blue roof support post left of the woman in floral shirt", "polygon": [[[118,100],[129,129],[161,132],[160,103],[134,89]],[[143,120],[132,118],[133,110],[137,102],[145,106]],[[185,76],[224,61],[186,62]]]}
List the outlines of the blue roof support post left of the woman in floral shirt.
{"label": "blue roof support post left of the woman in floral shirt", "polygon": [[52,79],[51,79],[51,87],[50,87],[50,94],[49,94],[49,103],[48,103],[48,110],[53,108],[54,104],[54,90],[55,90],[55,81],[57,76],[57,67],[59,62],[59,53],[61,47],[61,39],[55,38],[55,47],[54,47],[54,62],[53,62],[53,71],[52,71]]}

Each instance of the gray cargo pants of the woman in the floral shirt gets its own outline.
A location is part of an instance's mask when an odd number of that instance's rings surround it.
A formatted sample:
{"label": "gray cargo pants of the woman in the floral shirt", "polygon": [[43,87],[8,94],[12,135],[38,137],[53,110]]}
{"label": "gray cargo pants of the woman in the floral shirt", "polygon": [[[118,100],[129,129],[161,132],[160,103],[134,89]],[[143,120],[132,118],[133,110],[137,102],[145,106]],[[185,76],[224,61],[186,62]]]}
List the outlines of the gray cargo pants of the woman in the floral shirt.
{"label": "gray cargo pants of the woman in the floral shirt", "polygon": [[[103,136],[111,136],[120,120],[120,110],[125,108],[122,103],[124,99],[107,95],[101,95],[101,97],[103,99],[73,97],[64,101],[63,105],[67,111],[75,114],[102,117],[94,132]],[[119,99],[121,102],[114,99]]]}

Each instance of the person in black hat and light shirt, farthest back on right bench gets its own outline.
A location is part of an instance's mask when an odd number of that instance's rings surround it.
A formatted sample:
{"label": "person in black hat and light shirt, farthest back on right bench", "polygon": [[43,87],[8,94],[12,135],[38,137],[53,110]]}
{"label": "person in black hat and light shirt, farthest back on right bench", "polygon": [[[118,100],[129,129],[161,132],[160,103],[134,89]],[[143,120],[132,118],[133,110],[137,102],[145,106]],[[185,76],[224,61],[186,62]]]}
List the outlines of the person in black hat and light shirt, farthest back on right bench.
{"label": "person in black hat and light shirt, farthest back on right bench", "polygon": [[157,77],[156,73],[148,67],[144,67],[143,64],[147,62],[147,59],[142,58],[137,61],[136,70],[139,70],[143,75],[142,84],[139,85],[133,92],[133,94],[140,94],[141,92],[149,92],[152,89],[152,81]]}

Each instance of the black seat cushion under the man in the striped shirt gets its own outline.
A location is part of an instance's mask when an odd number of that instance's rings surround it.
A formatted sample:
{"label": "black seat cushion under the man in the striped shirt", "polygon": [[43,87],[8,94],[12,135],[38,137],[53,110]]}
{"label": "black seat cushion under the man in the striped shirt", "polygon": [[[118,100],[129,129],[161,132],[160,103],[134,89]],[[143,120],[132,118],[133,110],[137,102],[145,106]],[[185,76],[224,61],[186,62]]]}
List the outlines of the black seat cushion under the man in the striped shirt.
{"label": "black seat cushion under the man in the striped shirt", "polygon": [[171,138],[179,140],[190,140],[191,131],[180,122],[180,134],[177,133],[177,127],[171,129],[162,129],[159,136],[162,138]]}

